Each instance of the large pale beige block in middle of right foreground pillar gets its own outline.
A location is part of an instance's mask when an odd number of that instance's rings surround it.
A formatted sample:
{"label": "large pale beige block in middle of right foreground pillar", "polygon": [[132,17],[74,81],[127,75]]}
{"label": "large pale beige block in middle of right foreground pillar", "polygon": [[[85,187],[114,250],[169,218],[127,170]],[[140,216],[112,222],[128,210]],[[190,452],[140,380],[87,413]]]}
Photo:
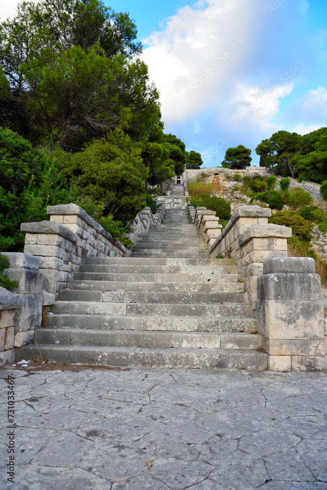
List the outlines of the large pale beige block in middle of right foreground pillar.
{"label": "large pale beige block in middle of right foreground pillar", "polygon": [[256,302],[258,329],[267,339],[316,339],[324,336],[322,301],[260,300]]}

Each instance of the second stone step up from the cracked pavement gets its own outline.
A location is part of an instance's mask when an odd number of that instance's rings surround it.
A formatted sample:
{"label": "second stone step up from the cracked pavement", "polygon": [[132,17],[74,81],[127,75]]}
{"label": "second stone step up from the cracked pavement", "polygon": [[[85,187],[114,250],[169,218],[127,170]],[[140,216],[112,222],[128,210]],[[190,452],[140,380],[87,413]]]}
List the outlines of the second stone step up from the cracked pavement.
{"label": "second stone step up from the cracked pavement", "polygon": [[257,349],[259,334],[172,332],[158,330],[90,330],[85,328],[39,328],[37,343],[102,345],[113,347],[157,347],[192,349]]}

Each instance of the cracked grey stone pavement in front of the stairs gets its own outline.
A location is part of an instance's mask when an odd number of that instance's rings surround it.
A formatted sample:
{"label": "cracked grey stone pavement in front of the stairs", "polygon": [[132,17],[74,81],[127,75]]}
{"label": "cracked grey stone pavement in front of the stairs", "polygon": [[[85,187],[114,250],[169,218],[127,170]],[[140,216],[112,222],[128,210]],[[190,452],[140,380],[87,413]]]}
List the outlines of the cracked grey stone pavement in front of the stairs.
{"label": "cracked grey stone pavement in front of the stairs", "polygon": [[[327,373],[0,370],[0,489],[327,489]],[[15,483],[6,481],[7,374]]]}

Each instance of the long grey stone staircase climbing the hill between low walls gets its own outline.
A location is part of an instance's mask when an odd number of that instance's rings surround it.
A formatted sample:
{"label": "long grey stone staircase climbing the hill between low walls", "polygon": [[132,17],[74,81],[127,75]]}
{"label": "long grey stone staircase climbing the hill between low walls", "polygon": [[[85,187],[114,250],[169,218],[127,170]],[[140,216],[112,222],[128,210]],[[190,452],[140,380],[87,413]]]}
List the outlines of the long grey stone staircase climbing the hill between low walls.
{"label": "long grey stone staircase climbing the hill between low walls", "polygon": [[238,277],[234,259],[207,258],[187,211],[166,211],[131,257],[85,258],[37,331],[39,348],[57,362],[265,369]]}

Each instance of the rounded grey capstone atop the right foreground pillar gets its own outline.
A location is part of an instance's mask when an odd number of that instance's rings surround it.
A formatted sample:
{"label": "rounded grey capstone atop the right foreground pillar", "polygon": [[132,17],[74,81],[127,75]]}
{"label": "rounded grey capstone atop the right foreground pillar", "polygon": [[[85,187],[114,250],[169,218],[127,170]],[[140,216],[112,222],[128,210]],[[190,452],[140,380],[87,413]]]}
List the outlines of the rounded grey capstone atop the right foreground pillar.
{"label": "rounded grey capstone atop the right foreground pillar", "polygon": [[263,274],[315,274],[315,261],[311,257],[272,257],[263,263]]}

